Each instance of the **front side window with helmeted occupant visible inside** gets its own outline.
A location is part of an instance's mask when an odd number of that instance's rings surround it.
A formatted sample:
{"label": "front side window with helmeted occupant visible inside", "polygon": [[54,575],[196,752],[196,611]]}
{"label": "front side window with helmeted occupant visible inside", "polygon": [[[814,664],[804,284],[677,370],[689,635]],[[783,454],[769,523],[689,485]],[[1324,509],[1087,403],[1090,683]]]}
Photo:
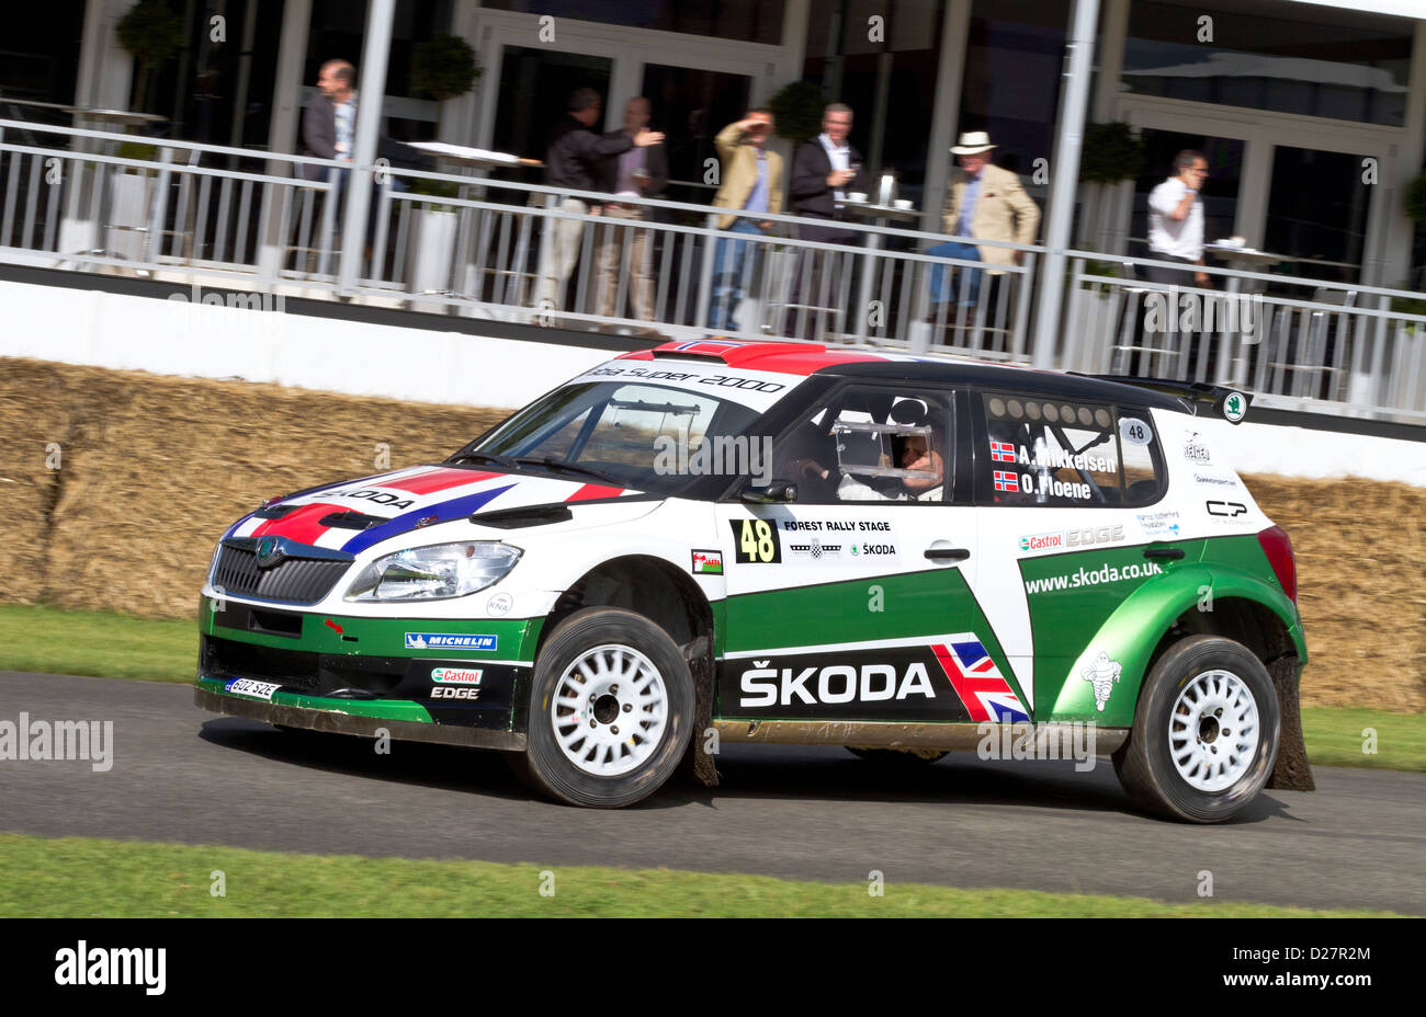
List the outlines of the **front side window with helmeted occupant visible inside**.
{"label": "front side window with helmeted occupant visible inside", "polygon": [[945,395],[844,386],[789,429],[773,474],[803,504],[945,500],[954,474]]}

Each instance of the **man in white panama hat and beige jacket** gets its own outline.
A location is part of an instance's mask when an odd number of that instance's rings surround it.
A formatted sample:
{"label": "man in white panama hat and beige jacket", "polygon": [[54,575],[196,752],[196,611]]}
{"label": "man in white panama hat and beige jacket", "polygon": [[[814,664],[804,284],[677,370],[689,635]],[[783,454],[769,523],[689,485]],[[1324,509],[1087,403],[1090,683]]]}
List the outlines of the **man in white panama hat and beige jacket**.
{"label": "man in white panama hat and beige jacket", "polygon": [[[951,148],[960,170],[951,177],[941,209],[941,228],[954,236],[970,236],[977,241],[1012,241],[1034,244],[1040,226],[1040,205],[1025,194],[1020,177],[1010,170],[1001,170],[990,161],[995,145],[985,131],[965,131]],[[1020,252],[1010,248],[980,246],[964,241],[938,244],[927,254],[943,258],[983,261],[987,265],[1015,265]],[[1000,275],[994,268],[991,275]],[[973,306],[980,299],[980,269],[970,269],[964,285],[950,285],[944,265],[931,269],[931,315],[935,320],[943,303],[950,303],[960,295],[963,306]],[[961,281],[957,281],[958,283]]]}

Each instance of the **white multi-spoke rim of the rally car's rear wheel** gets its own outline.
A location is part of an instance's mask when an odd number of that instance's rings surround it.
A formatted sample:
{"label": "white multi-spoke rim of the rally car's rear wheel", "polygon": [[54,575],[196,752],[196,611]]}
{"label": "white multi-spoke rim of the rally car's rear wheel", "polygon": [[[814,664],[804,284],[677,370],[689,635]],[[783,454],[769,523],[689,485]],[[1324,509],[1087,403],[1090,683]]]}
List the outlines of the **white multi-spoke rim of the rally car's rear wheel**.
{"label": "white multi-spoke rim of the rally car's rear wheel", "polygon": [[1258,755],[1258,701],[1231,671],[1205,671],[1188,682],[1168,719],[1169,755],[1196,791],[1232,786]]}

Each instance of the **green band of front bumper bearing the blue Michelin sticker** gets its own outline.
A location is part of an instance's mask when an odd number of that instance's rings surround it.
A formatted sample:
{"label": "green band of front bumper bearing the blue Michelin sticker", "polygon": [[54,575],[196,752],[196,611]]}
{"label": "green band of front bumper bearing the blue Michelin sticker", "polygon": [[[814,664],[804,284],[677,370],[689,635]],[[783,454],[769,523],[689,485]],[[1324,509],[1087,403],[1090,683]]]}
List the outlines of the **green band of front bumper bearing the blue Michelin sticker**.
{"label": "green band of front bumper bearing the blue Michelin sticker", "polygon": [[[204,597],[198,608],[198,631],[218,635],[224,640],[252,642],[278,650],[301,650],[314,654],[342,654],[348,657],[431,657],[442,659],[471,661],[522,661],[535,659],[543,618],[354,618],[348,615],[302,614],[302,635],[289,638],[250,632],[242,628],[227,628],[214,621],[212,603]],[[328,625],[331,621],[341,632]],[[495,635],[496,647],[491,651],[469,648],[408,650],[406,632],[442,632]],[[342,638],[342,637],[351,638]]]}

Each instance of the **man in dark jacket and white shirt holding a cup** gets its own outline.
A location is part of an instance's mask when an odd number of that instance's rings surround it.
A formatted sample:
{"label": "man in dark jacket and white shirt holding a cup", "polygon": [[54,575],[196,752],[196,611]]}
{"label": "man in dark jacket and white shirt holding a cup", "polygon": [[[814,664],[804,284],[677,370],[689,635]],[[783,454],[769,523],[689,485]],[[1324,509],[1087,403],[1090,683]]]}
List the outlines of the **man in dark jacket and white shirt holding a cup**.
{"label": "man in dark jacket and white shirt holding a cup", "polygon": [[[843,103],[833,103],[821,113],[821,134],[811,141],[797,145],[793,152],[791,182],[787,189],[791,195],[797,215],[806,219],[817,219],[829,225],[799,224],[797,236],[804,241],[819,244],[847,244],[860,242],[861,234],[846,226],[833,225],[843,217],[843,202],[847,192],[868,189],[867,171],[861,162],[861,152],[851,147],[847,135],[851,134],[851,107]],[[813,271],[820,265],[823,271],[831,264],[834,254],[830,251],[810,251],[803,248],[797,255],[797,268],[793,273],[790,303],[811,303],[813,296],[821,291],[819,273]],[[806,283],[806,296],[804,296]],[[829,279],[827,292],[836,293],[834,279]],[[787,332],[797,328],[799,315],[789,312]],[[804,319],[810,332],[816,332],[816,315],[806,315]],[[814,336],[804,336],[811,339]]]}

